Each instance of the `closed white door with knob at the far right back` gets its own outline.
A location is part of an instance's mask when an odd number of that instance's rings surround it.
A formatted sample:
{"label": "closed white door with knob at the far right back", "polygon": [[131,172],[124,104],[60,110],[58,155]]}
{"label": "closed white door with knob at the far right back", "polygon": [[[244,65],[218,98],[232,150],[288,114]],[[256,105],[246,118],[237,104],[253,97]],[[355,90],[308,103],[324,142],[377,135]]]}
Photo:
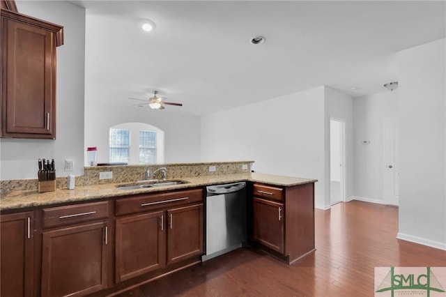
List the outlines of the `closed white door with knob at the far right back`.
{"label": "closed white door with knob at the far right back", "polygon": [[398,118],[384,119],[384,203],[399,205]]}

